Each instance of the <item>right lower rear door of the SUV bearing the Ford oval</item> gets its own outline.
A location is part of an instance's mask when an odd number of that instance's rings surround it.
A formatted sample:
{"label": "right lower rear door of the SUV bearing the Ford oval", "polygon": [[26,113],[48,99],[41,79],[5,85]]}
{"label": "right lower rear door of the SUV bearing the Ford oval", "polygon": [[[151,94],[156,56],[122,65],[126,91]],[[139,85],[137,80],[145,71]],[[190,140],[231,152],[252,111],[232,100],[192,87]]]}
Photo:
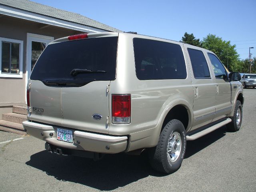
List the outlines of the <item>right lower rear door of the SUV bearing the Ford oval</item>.
{"label": "right lower rear door of the SUV bearing the Ford oval", "polygon": [[62,88],[62,126],[108,134],[109,83],[95,81],[82,87]]}

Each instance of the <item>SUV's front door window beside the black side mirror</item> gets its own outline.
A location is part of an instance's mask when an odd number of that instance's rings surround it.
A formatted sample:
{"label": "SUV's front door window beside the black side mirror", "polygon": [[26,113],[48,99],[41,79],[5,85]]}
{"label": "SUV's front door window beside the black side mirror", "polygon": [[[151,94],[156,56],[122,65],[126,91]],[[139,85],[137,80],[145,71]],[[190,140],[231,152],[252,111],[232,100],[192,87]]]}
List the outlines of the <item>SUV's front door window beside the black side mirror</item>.
{"label": "SUV's front door window beside the black side mirror", "polygon": [[208,53],[208,56],[212,63],[212,68],[214,70],[215,77],[218,79],[226,79],[226,70],[222,63],[220,62],[220,60],[214,54]]}

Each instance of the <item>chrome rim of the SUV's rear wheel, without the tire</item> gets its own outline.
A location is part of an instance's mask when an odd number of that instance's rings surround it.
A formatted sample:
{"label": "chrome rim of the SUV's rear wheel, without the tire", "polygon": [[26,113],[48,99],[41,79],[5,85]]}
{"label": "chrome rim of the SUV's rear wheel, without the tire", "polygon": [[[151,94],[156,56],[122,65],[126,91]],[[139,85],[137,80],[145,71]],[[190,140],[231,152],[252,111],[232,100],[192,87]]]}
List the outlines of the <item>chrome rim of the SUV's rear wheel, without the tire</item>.
{"label": "chrome rim of the SUV's rear wheel, without the tire", "polygon": [[173,132],[168,140],[167,156],[170,162],[174,162],[180,156],[181,136],[178,132]]}

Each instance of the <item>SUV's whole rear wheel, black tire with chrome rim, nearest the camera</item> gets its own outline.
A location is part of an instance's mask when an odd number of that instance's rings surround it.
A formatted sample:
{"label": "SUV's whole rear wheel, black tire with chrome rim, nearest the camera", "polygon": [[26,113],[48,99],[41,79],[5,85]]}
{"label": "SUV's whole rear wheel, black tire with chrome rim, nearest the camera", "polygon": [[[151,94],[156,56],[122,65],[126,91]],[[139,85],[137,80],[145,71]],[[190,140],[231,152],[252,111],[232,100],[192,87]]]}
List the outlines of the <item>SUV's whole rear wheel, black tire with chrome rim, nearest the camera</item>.
{"label": "SUV's whole rear wheel, black tire with chrome rim, nearest the camera", "polygon": [[[176,136],[175,140],[174,137],[171,137],[173,135]],[[180,168],[185,152],[186,130],[182,122],[173,119],[162,129],[157,146],[150,149],[150,164],[156,171],[166,174],[173,173]]]}

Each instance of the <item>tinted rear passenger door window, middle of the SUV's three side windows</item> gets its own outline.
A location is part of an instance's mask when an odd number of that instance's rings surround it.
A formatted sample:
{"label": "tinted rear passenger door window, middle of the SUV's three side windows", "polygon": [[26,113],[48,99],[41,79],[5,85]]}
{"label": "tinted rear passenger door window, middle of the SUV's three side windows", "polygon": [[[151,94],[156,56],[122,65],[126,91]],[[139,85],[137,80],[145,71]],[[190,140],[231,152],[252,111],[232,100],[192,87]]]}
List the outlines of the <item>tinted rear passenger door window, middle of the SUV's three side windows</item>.
{"label": "tinted rear passenger door window, middle of the SUV's three side windows", "polygon": [[211,78],[210,71],[204,54],[200,50],[188,48],[188,54],[190,57],[194,78]]}

